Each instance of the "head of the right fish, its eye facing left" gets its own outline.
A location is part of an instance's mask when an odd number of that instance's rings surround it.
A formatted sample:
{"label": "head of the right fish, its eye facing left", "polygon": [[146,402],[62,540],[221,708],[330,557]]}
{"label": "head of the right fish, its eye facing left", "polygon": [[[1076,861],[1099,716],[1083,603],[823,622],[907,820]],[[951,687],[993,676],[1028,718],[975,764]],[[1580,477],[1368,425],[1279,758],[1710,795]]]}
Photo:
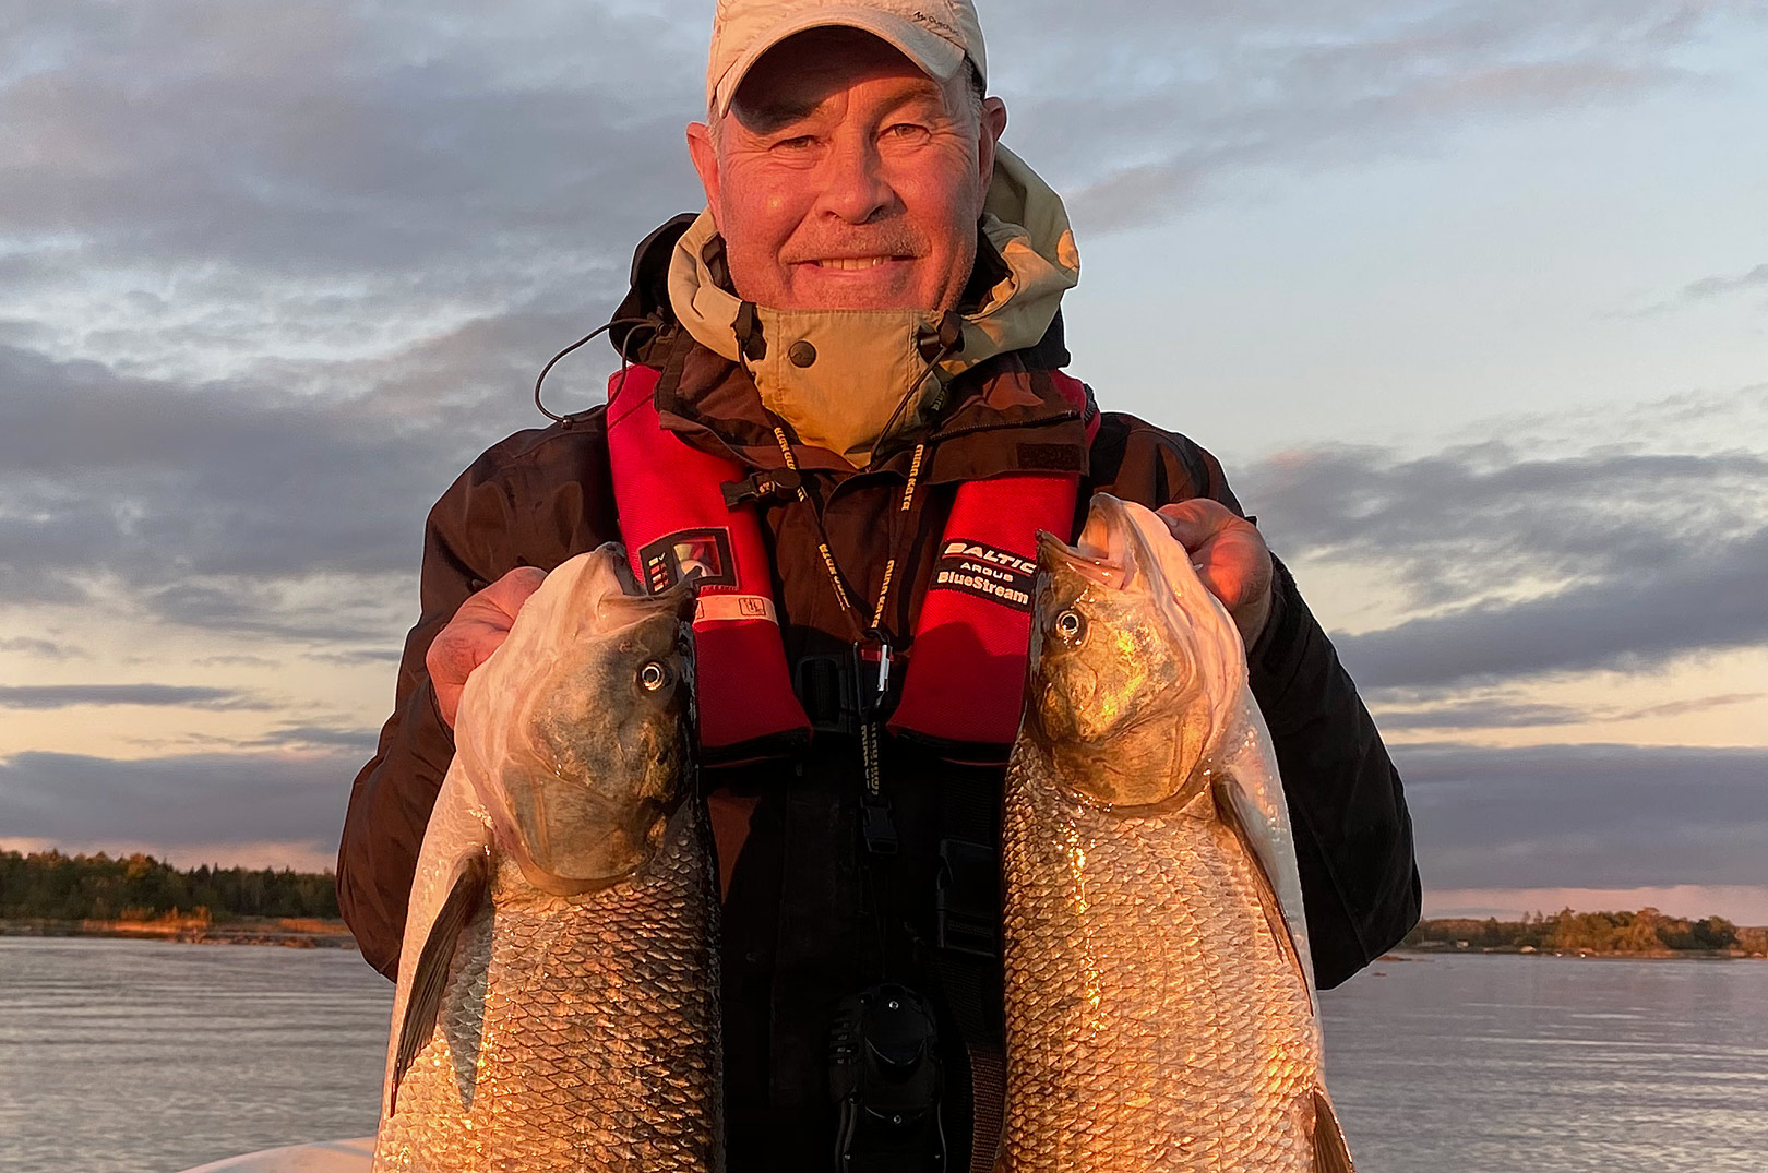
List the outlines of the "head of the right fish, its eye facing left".
{"label": "head of the right fish, its eye facing left", "polygon": [[1185,548],[1153,512],[1100,493],[1073,546],[1040,534],[1038,571],[1025,735],[1086,802],[1192,793],[1234,687],[1218,648],[1222,624],[1234,629],[1211,615],[1220,604]]}

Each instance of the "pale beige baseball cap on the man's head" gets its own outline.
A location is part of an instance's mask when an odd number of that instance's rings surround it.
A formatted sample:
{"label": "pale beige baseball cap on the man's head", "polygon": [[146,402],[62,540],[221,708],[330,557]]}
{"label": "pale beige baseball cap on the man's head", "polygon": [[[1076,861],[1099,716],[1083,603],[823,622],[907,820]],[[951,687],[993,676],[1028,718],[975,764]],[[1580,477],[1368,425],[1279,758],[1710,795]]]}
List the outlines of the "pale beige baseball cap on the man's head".
{"label": "pale beige baseball cap on the man's head", "polygon": [[705,69],[705,108],[730,110],[750,67],[762,53],[806,28],[859,28],[896,48],[935,81],[951,81],[964,58],[988,76],[983,26],[971,0],[718,0],[713,53]]}

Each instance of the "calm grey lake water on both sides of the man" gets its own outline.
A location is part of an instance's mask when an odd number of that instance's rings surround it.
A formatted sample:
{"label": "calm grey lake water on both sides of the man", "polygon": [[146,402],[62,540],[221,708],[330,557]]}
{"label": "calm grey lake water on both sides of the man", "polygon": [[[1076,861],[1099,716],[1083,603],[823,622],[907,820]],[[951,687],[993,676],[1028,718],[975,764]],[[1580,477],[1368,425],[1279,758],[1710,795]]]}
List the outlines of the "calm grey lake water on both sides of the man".
{"label": "calm grey lake water on both sides of the man", "polygon": [[[391,1003],[345,950],[0,938],[0,1171],[366,1136]],[[1360,1173],[1768,1168],[1768,963],[1381,961],[1322,1005]]]}

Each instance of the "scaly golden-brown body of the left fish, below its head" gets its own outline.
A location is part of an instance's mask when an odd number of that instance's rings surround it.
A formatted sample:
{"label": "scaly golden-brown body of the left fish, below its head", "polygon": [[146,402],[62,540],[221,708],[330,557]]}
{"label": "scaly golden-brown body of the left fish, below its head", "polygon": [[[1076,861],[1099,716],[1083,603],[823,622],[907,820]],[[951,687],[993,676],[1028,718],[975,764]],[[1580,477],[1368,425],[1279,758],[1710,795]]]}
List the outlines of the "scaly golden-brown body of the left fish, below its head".
{"label": "scaly golden-brown body of the left fish, below its head", "polygon": [[[682,804],[640,876],[578,897],[537,892],[500,862],[492,908],[461,933],[438,1030],[382,1124],[377,1169],[713,1168],[718,959],[697,823]],[[456,1048],[477,1053],[465,1109]]]}

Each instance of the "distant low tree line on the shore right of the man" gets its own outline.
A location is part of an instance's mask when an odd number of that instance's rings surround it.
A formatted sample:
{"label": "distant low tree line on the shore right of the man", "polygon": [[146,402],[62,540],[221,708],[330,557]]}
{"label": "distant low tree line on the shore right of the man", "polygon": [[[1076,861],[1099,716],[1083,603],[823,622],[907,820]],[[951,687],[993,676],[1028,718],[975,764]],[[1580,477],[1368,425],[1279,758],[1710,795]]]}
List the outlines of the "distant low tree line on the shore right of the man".
{"label": "distant low tree line on the shore right of the man", "polygon": [[1639,912],[1526,913],[1522,920],[1420,920],[1400,947],[1533,949],[1538,952],[1662,954],[1741,950],[1768,954],[1768,929],[1724,917],[1687,920],[1657,908]]}

